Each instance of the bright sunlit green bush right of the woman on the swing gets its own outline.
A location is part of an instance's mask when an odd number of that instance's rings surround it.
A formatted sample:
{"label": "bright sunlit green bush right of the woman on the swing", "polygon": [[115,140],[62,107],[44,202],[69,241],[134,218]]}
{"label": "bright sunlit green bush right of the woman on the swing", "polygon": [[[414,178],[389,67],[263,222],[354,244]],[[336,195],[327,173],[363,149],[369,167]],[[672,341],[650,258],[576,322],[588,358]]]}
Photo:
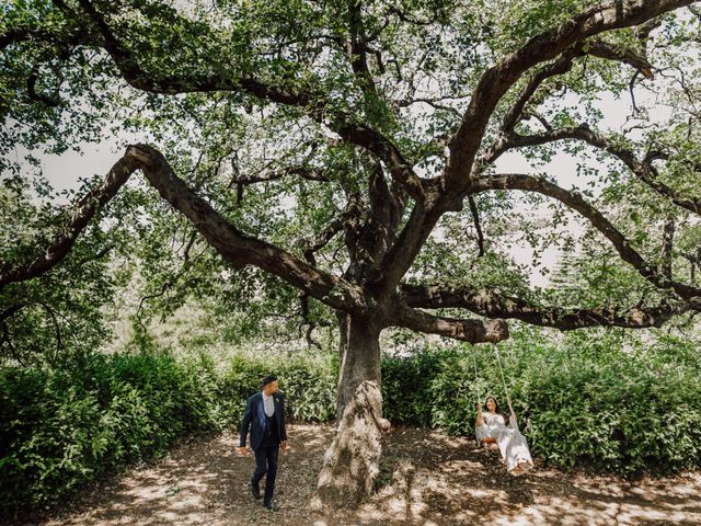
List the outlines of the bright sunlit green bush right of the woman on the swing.
{"label": "bright sunlit green bush right of the woman on the swing", "polygon": [[[550,364],[537,356],[518,378],[533,451],[563,467],[620,474],[699,466],[698,369],[660,366],[654,348],[600,351],[567,356],[566,350],[551,350]],[[554,367],[552,355],[560,361]]]}

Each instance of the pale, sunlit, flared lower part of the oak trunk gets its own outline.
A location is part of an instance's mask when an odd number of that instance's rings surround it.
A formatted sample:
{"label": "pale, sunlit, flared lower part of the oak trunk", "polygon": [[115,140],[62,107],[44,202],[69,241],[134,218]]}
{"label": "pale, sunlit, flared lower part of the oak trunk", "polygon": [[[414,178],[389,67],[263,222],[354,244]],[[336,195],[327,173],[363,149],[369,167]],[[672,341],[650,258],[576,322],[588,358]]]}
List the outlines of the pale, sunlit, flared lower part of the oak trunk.
{"label": "pale, sunlit, flared lower part of the oak trunk", "polygon": [[338,421],[325,454],[312,506],[354,507],[372,492],[379,473],[382,434],[390,422],[382,418],[382,395],[377,381],[364,381]]}

